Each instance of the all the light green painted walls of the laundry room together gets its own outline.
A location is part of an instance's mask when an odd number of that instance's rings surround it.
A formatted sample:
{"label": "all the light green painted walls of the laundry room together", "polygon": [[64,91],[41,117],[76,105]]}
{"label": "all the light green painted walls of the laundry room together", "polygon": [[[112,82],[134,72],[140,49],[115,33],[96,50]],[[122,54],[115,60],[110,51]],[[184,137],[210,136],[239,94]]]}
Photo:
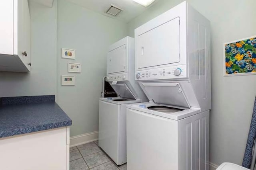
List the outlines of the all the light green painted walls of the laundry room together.
{"label": "all the light green painted walls of the laundry room together", "polygon": [[[101,78],[106,74],[108,46],[127,34],[133,37],[134,28],[182,1],[160,0],[128,25],[65,0],[58,0],[58,5],[55,0],[53,8],[29,1],[32,71],[29,74],[0,72],[0,97],[58,92],[58,104],[73,120],[71,136],[97,131],[98,97]],[[223,77],[222,51],[224,42],[256,35],[256,1],[188,2],[211,21],[212,27],[210,162],[241,164],[256,95],[256,76]],[[76,49],[76,60],[61,59],[62,47]],[[82,63],[82,73],[74,74],[76,86],[60,85],[60,76],[70,74],[68,62]]]}

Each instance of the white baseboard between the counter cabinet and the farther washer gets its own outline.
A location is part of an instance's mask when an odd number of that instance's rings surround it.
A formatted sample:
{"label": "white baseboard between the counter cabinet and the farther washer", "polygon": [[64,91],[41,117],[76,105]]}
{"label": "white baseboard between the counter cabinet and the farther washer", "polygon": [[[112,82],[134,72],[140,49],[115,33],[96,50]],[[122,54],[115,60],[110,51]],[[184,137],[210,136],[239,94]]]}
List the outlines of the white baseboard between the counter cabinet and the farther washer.
{"label": "white baseboard between the counter cabinet and the farther washer", "polygon": [[70,137],[70,147],[75,147],[75,146],[82,145],[85,143],[97,141],[98,134],[99,134],[99,131],[96,131],[96,132],[85,133],[82,135]]}

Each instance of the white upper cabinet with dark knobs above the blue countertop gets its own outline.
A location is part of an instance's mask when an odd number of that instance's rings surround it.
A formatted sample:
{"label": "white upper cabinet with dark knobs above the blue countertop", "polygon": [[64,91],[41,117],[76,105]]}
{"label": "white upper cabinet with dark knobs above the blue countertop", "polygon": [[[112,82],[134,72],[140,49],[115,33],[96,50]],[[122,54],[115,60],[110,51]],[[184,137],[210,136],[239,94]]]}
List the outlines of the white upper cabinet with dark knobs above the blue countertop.
{"label": "white upper cabinet with dark knobs above the blue countertop", "polygon": [[30,72],[28,0],[0,0],[0,71]]}

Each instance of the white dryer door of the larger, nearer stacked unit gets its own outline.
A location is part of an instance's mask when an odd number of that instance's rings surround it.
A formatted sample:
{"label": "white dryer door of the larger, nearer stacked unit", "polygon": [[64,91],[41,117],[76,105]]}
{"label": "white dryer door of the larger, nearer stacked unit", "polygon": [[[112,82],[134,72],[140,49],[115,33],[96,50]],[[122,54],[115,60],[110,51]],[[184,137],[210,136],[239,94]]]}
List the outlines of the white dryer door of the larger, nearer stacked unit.
{"label": "white dryer door of the larger, nearer stacked unit", "polygon": [[136,49],[138,68],[180,61],[179,21],[179,18],[175,18],[138,35]]}

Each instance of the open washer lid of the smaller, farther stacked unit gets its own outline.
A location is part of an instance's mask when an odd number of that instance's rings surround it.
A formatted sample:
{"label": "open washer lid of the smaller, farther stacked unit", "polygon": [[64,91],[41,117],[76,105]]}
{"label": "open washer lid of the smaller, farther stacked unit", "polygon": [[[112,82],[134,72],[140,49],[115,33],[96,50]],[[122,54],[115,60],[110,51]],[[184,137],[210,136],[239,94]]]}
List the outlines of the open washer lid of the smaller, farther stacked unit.
{"label": "open washer lid of the smaller, farther stacked unit", "polygon": [[136,100],[135,95],[132,93],[130,88],[124,83],[111,84],[112,88],[115,90],[116,94],[121,98]]}

